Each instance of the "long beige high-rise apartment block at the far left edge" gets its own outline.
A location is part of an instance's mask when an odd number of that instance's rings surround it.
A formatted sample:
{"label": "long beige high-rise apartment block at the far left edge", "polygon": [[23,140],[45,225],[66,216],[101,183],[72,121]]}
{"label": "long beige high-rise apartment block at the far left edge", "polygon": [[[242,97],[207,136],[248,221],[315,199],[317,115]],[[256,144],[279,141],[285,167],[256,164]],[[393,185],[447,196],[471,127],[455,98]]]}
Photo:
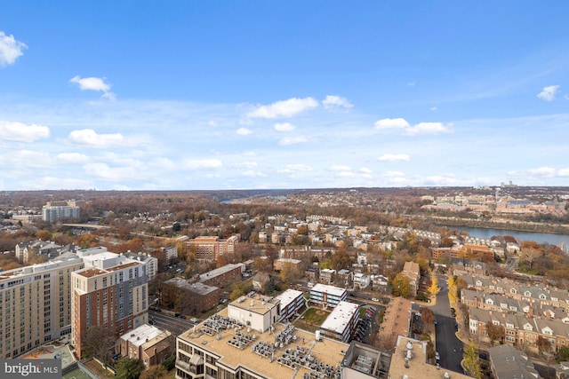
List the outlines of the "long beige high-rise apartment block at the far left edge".
{"label": "long beige high-rise apartment block at the far left edge", "polygon": [[80,257],[65,253],[0,272],[0,357],[18,357],[71,332],[70,276],[83,268]]}

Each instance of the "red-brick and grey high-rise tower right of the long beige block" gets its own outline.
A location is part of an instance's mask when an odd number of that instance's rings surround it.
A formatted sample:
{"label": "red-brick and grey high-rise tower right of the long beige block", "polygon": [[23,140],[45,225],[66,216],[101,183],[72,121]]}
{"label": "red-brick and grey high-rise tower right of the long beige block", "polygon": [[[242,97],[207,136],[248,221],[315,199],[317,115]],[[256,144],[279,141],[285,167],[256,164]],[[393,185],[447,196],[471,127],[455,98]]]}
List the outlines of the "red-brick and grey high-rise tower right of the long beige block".
{"label": "red-brick and grey high-rise tower right of the long beige block", "polygon": [[77,255],[85,268],[71,273],[71,340],[81,358],[88,328],[117,339],[148,322],[148,275],[145,262],[123,255],[93,249]]}

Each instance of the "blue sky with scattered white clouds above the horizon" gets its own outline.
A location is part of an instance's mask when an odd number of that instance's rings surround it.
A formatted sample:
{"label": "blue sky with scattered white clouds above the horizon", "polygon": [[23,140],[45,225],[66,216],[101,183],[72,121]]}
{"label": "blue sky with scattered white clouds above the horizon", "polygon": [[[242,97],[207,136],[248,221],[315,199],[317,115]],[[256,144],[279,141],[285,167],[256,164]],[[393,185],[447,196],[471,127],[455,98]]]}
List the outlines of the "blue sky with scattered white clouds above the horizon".
{"label": "blue sky with scattered white clouds above the horizon", "polygon": [[567,14],[3,2],[0,190],[568,186]]}

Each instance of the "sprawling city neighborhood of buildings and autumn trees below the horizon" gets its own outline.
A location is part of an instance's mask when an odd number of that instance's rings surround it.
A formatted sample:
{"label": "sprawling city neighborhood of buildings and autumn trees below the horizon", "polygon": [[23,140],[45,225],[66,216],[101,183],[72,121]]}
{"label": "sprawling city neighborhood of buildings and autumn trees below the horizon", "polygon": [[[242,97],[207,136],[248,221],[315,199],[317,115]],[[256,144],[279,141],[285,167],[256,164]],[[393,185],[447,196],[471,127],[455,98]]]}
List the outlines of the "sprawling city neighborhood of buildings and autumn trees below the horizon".
{"label": "sprawling city neighborhood of buildings and autumn trees below the horizon", "polygon": [[[441,224],[563,228],[565,190],[64,194],[2,197],[5,358],[184,379],[569,373],[565,245]],[[510,356],[526,363],[501,373]]]}

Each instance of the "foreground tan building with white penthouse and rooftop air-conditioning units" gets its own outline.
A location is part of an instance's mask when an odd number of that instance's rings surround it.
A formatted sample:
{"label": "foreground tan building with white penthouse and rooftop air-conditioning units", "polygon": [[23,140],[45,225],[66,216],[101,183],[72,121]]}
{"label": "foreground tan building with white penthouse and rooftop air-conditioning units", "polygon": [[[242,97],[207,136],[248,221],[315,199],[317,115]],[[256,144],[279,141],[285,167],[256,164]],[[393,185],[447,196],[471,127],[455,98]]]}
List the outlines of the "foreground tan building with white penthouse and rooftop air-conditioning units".
{"label": "foreground tan building with white penthouse and rooftop air-conditioning units", "polygon": [[245,297],[182,333],[175,377],[301,379],[311,371],[340,377],[349,345],[275,322],[277,313],[274,299]]}

